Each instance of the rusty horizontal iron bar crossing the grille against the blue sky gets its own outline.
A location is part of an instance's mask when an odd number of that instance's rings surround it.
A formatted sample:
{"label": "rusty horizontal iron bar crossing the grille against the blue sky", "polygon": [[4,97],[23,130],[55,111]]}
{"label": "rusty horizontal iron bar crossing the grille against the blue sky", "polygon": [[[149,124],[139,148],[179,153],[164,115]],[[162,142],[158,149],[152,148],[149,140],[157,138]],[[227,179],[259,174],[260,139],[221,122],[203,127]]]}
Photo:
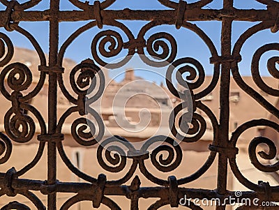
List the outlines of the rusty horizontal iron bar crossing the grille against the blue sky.
{"label": "rusty horizontal iron bar crossing the grille against the blue sky", "polygon": [[[1,20],[6,20],[6,11],[0,11]],[[11,15],[11,19],[14,22],[22,21],[48,21],[52,16],[51,10],[43,11],[14,11]],[[128,8],[124,10],[102,10],[101,16],[104,22],[110,22],[110,20],[164,20],[164,22],[176,20],[176,10],[130,10]],[[240,10],[234,8],[233,10],[204,10],[193,9],[186,10],[183,19],[187,21],[210,21],[210,20],[222,20],[223,17],[232,17],[237,21],[276,21],[277,13],[275,9],[269,10]],[[95,15],[92,10],[86,11],[59,11],[57,15],[59,22],[75,22],[95,20]],[[5,24],[4,22],[2,24]]]}

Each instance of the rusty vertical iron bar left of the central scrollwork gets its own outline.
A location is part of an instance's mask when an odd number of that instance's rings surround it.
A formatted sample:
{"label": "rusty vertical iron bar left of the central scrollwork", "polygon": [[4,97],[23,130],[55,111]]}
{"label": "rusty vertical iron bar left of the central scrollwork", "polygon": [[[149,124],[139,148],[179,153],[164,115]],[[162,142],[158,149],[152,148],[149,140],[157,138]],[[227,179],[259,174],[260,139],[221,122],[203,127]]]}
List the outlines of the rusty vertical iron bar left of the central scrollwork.
{"label": "rusty vertical iron bar left of the central scrollwork", "polygon": [[[49,92],[48,92],[48,134],[54,134],[57,123],[57,76],[51,68],[56,66],[59,44],[59,4],[60,0],[50,1],[50,52],[49,52]],[[56,183],[56,143],[47,143],[47,184]],[[56,210],[56,192],[47,196],[47,209]]]}

